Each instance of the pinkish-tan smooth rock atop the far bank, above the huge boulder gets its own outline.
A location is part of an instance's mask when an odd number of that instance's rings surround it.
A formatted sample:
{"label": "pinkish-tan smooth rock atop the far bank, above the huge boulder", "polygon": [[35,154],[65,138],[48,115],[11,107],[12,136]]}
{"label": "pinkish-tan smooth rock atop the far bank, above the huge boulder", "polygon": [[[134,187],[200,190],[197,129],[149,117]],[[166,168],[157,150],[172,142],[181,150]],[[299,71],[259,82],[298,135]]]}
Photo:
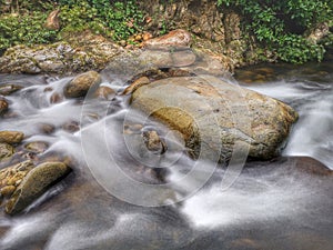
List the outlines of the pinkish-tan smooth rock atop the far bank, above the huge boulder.
{"label": "pinkish-tan smooth rock atop the far bank, above the huge boulder", "polygon": [[168,47],[190,47],[191,33],[182,29],[172,30],[159,38],[147,40],[143,44],[144,47],[150,49],[165,49]]}

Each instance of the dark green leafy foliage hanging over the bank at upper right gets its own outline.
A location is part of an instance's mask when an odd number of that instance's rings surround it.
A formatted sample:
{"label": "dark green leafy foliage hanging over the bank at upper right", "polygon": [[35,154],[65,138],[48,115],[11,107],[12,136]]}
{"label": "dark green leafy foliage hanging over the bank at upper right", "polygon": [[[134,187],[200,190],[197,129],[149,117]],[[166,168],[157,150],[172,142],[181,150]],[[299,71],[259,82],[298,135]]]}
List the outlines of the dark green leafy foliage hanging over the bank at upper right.
{"label": "dark green leafy foliage hanging over the bank at upper right", "polygon": [[332,20],[331,0],[218,0],[246,17],[246,30],[256,40],[287,62],[303,63],[322,60],[323,44],[307,41],[303,33],[316,23]]}

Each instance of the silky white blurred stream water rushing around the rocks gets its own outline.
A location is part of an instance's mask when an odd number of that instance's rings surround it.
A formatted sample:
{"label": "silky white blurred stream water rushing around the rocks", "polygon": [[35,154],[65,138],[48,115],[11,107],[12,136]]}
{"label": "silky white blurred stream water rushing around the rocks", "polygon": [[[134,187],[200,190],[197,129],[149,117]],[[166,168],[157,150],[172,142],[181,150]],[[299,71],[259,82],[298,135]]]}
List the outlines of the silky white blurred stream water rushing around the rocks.
{"label": "silky white blurred stream water rushing around the rocks", "polygon": [[[300,120],[284,158],[248,163],[222,190],[223,168],[189,159],[176,134],[131,110],[127,98],[52,103],[71,78],[0,76],[0,83],[24,86],[7,97],[0,130],[48,142],[44,154],[69,156],[74,169],[24,213],[0,216],[0,249],[332,249],[332,176],[304,171],[297,166],[305,158],[294,158],[312,157],[333,169],[332,63],[259,66],[235,77],[291,104]],[[103,84],[124,87],[108,72]],[[69,123],[80,130],[69,131]],[[52,131],[44,131],[48,126]],[[150,128],[165,138],[163,157],[140,144],[140,131]],[[149,166],[171,166],[171,184],[161,184]]]}

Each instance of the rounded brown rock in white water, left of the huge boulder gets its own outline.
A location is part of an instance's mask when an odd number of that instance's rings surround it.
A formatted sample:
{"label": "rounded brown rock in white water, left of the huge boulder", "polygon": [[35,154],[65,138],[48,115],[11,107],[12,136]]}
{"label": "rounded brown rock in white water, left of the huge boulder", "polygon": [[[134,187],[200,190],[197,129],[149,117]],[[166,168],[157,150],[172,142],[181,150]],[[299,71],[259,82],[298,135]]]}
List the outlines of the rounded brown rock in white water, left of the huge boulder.
{"label": "rounded brown rock in white water, left of the huge boulder", "polygon": [[101,83],[101,76],[95,71],[81,73],[65,84],[63,94],[67,98],[84,97],[91,87]]}

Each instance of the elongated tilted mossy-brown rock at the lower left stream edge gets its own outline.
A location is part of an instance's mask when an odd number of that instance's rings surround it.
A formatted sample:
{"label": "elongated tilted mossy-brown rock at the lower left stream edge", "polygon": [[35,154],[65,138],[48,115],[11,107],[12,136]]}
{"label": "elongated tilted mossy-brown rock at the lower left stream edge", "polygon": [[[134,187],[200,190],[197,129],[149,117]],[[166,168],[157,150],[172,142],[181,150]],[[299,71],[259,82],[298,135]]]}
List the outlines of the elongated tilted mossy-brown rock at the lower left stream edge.
{"label": "elongated tilted mossy-brown rock at the lower left stream edge", "polygon": [[44,162],[32,169],[6,204],[6,212],[13,216],[24,210],[50,186],[70,172],[62,162]]}

